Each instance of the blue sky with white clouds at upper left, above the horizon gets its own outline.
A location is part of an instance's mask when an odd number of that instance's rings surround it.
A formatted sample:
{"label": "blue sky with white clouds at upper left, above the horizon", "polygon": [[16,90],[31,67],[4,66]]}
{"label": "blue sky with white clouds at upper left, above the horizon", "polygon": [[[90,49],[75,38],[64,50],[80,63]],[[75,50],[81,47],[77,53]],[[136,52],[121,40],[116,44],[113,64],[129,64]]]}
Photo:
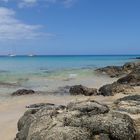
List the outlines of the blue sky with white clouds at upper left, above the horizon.
{"label": "blue sky with white clouds at upper left, above the horizon", "polygon": [[140,0],[0,0],[0,55],[140,54]]}

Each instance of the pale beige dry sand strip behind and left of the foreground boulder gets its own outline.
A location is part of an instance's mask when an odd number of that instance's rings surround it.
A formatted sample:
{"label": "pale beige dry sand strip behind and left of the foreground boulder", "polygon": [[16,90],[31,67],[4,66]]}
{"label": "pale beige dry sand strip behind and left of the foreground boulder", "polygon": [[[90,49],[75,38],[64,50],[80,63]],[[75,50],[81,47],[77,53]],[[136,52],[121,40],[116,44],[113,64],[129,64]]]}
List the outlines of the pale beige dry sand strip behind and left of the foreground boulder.
{"label": "pale beige dry sand strip behind and left of the foreground boulder", "polygon": [[[133,94],[140,93],[140,87],[135,88]],[[23,113],[27,110],[26,105],[34,103],[55,103],[66,105],[72,100],[94,99],[105,104],[112,104],[116,99],[126,96],[116,94],[115,96],[60,96],[60,95],[27,95],[19,97],[9,97],[6,102],[0,104],[0,140],[13,140],[17,133],[17,122]],[[136,116],[134,116],[136,117]]]}

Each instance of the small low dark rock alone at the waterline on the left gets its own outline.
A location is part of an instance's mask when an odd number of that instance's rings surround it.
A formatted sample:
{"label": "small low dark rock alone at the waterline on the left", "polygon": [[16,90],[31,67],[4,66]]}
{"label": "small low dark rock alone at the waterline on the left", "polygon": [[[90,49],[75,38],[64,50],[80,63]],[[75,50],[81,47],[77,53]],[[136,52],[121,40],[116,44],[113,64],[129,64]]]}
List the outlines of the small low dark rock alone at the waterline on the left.
{"label": "small low dark rock alone at the waterline on the left", "polygon": [[12,96],[21,96],[21,95],[29,95],[29,94],[35,94],[35,91],[27,90],[27,89],[19,89],[16,92],[13,92]]}

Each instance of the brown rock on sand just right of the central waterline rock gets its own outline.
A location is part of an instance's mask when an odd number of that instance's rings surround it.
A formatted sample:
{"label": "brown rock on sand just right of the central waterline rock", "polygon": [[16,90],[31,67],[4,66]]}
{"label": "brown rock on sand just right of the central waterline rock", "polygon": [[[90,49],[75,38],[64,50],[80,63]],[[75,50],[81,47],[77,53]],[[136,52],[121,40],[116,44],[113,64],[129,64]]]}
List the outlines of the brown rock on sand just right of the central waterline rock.
{"label": "brown rock on sand just right of the central waterline rock", "polygon": [[119,84],[117,82],[114,82],[112,84],[107,84],[102,86],[99,89],[98,95],[103,95],[103,96],[113,96],[117,93],[131,93],[134,92],[134,88],[129,86],[129,85],[123,85]]}

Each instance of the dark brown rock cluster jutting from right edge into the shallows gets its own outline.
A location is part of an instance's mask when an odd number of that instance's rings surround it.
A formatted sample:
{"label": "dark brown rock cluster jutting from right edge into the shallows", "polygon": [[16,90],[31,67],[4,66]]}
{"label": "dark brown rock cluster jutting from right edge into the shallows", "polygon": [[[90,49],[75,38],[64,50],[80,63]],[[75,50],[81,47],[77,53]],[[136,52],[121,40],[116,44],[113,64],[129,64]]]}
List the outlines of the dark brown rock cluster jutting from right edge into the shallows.
{"label": "dark brown rock cluster jutting from right edge into the shallows", "polygon": [[[132,93],[134,92],[133,86],[140,86],[140,62],[129,62],[123,66],[108,66],[105,68],[97,69],[98,72],[105,72],[111,77],[118,77],[125,74],[124,77],[119,78],[112,84],[107,84],[99,88],[87,88],[82,85],[72,86],[69,90],[71,95],[103,95],[113,96],[117,93]],[[114,76],[113,76],[114,75]]]}

